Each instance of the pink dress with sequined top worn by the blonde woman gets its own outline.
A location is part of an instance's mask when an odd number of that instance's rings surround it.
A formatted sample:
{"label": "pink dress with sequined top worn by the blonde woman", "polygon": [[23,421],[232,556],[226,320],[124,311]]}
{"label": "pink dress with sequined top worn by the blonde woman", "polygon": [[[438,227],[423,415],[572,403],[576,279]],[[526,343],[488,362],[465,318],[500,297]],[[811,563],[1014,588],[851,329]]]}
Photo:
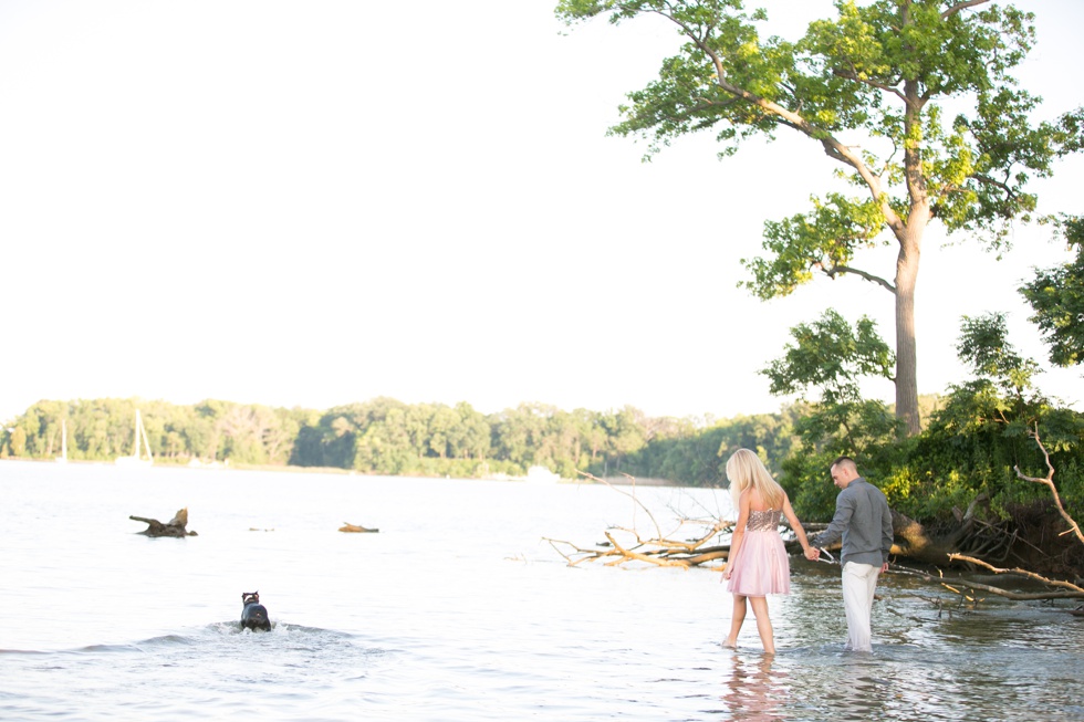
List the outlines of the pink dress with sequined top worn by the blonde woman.
{"label": "pink dress with sequined top worn by the blonde woman", "polygon": [[746,535],[734,557],[727,590],[743,597],[791,593],[791,565],[779,535],[783,512],[749,512]]}

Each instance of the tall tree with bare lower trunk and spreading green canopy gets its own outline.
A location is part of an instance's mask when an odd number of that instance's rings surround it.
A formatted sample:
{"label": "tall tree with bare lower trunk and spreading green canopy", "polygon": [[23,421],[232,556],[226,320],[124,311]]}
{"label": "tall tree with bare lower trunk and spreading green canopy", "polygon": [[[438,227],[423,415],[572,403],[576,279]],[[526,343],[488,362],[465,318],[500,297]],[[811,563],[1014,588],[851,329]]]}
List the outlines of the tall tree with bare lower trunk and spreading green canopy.
{"label": "tall tree with bare lower trunk and spreading green canopy", "polygon": [[[752,276],[744,285],[771,299],[815,274],[852,274],[895,296],[896,414],[914,433],[915,282],[927,227],[936,219],[948,232],[1003,244],[1005,224],[1035,208],[1029,179],[1078,148],[1081,111],[1032,122],[1041,98],[1018,87],[1012,71],[1034,42],[1033,15],[1011,4],[835,7],[835,18],[810,23],[798,41],[764,39],[767,11],[747,12],[741,0],[563,0],[556,12],[615,24],[655,15],[684,36],[658,80],[629,93],[613,133],[644,136],[654,153],[712,128],[723,156],[751,136],[795,133],[840,164],[855,190],[841,185],[809,213],[768,222],[767,253],[743,262]],[[882,244],[898,247],[895,269],[858,268],[857,252]]]}

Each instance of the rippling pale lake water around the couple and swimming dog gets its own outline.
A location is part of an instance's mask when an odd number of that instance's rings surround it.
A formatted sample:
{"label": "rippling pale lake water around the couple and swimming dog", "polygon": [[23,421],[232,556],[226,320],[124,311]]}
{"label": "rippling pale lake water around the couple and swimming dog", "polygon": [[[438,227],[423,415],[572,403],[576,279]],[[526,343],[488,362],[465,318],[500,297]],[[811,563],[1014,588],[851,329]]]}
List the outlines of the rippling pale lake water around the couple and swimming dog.
{"label": "rippling pale lake water around the couple and swimming dog", "polygon": [[[666,531],[727,503],[637,493]],[[199,536],[128,520],[181,506]],[[1066,603],[939,614],[889,577],[851,655],[838,568],[794,559],[779,653],[751,614],[732,652],[718,574],[570,568],[540,541],[634,521],[604,486],[0,462],[0,719],[1084,720]],[[271,632],[238,629],[254,589]]]}

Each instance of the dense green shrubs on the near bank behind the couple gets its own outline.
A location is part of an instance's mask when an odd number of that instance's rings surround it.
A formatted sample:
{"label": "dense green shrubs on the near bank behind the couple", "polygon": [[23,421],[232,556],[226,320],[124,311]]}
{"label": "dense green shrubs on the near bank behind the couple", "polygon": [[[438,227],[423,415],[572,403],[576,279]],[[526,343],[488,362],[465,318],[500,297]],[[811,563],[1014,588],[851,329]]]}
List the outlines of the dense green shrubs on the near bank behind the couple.
{"label": "dense green shrubs on the near bank behind the couple", "polygon": [[858,460],[893,509],[924,523],[953,523],[980,494],[994,514],[1009,516],[1017,506],[1049,501],[1044,486],[1014,471],[1046,475],[1036,436],[1057,470],[1063,502],[1084,509],[1084,415],[1035,388],[1039,366],[1009,343],[1003,315],[965,317],[958,352],[973,378],[938,399],[917,437],[897,440],[894,419],[876,401],[810,407],[794,426],[800,443],[781,479],[802,519],[831,517],[835,489],[827,469],[840,454]]}

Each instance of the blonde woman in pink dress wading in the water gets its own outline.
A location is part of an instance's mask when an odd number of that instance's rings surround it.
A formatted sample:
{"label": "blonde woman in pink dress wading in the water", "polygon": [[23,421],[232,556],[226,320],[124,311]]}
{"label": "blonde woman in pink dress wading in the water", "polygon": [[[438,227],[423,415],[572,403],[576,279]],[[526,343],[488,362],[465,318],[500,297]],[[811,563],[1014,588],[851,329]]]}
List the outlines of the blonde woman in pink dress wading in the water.
{"label": "blonde woman in pink dress wading in the water", "polygon": [[734,595],[734,611],[730,621],[730,636],[725,647],[738,646],[738,632],[746,620],[746,599],[749,599],[757,617],[757,631],[764,651],[775,653],[772,621],[768,618],[769,594],[790,594],[791,567],[786,550],[779,535],[783,516],[805,550],[813,554],[805,530],[799,523],[783,488],[772,479],[757,454],[749,449],[738,449],[727,461],[727,479],[730,495],[738,510],[738,523],[730,540],[730,554],[722,576],[728,580],[727,590]]}

